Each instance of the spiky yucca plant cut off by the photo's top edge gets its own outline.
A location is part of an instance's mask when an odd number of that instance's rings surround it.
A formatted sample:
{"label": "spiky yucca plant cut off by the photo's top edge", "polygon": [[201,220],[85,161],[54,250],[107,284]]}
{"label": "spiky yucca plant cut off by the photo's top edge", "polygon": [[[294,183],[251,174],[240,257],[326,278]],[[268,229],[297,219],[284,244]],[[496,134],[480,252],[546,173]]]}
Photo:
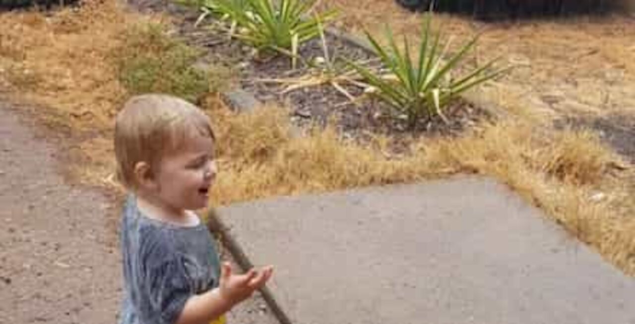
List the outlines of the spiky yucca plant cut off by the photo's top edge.
{"label": "spiky yucca plant cut off by the photo's top edge", "polygon": [[335,11],[311,15],[316,0],[205,0],[204,8],[229,18],[231,31],[258,51],[290,53],[319,35],[319,23],[331,20]]}

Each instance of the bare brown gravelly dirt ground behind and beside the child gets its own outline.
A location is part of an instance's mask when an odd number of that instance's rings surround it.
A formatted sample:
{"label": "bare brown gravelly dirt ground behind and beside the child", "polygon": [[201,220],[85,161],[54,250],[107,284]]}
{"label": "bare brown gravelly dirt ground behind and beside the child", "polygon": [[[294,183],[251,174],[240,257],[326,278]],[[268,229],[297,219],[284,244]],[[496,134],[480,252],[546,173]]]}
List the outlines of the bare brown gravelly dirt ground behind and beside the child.
{"label": "bare brown gravelly dirt ground behind and beside the child", "polygon": [[[65,182],[61,140],[0,102],[0,323],[116,323],[116,199]],[[260,296],[228,315],[274,324]]]}

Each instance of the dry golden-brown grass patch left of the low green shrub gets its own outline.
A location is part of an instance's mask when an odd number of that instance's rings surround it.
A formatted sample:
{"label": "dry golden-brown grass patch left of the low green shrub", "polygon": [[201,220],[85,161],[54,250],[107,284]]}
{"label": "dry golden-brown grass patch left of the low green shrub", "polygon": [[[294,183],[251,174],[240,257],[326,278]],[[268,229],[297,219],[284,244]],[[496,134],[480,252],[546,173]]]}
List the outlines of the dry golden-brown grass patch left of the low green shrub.
{"label": "dry golden-brown grass patch left of the low green shrub", "polygon": [[[126,94],[111,58],[124,30],[143,20],[116,1],[88,2],[46,17],[37,12],[0,15],[0,74],[37,103],[56,125],[72,130],[110,127]],[[5,28],[7,27],[7,28]]]}

